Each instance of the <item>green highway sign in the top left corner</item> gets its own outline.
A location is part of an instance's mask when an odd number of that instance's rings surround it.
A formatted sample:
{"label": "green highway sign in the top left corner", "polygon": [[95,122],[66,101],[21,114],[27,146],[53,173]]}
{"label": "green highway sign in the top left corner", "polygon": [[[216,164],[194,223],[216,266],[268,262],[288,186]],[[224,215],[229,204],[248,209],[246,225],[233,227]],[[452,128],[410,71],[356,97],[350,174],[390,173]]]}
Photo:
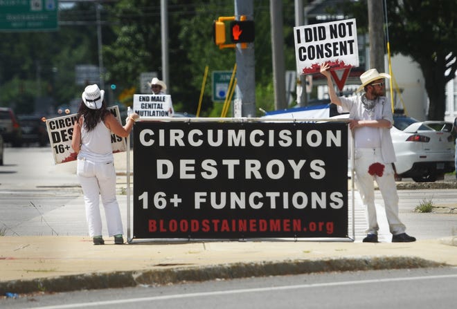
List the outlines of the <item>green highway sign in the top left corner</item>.
{"label": "green highway sign in the top left corner", "polygon": [[57,0],[0,1],[0,31],[57,30]]}

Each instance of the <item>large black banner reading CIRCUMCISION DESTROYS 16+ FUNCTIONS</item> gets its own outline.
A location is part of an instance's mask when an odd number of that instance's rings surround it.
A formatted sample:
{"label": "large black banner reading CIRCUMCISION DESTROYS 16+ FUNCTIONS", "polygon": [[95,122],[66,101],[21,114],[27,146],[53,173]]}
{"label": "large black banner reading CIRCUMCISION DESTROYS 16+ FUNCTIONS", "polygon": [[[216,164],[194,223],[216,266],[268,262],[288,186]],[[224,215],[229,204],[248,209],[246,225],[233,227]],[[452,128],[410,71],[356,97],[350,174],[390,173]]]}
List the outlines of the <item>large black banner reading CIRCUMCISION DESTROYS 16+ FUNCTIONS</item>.
{"label": "large black banner reading CIRCUMCISION DESTROYS 16+ FUNCTIONS", "polygon": [[134,238],[348,237],[346,123],[136,122]]}

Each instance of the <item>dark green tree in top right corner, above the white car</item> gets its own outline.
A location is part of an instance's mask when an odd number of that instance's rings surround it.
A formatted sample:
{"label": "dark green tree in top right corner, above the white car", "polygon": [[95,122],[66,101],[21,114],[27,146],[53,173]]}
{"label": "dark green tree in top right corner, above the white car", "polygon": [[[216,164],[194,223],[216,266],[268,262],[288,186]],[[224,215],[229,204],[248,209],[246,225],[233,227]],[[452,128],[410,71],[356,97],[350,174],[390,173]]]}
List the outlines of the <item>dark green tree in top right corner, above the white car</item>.
{"label": "dark green tree in top right corner, above the white car", "polygon": [[395,53],[418,62],[429,95],[429,120],[443,120],[445,87],[457,70],[457,1],[388,0],[388,29]]}

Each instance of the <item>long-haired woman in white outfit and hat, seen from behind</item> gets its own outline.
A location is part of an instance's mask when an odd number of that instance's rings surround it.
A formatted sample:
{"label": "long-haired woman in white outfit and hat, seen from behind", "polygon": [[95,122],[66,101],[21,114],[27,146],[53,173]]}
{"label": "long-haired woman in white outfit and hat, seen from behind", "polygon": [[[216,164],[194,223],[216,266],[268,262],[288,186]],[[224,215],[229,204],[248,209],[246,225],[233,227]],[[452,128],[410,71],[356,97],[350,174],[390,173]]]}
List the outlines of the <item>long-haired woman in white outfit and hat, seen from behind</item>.
{"label": "long-haired woman in white outfit and hat, seen from behind", "polygon": [[111,132],[127,137],[138,118],[133,113],[125,120],[123,127],[114,115],[107,110],[105,91],[96,84],[89,85],[82,93],[82,102],[73,126],[71,147],[78,153],[76,175],[84,194],[89,236],[94,245],[104,245],[100,198],[105,208],[109,236],[114,236],[115,244],[123,244],[123,225],[116,199],[116,171],[114,169]]}

